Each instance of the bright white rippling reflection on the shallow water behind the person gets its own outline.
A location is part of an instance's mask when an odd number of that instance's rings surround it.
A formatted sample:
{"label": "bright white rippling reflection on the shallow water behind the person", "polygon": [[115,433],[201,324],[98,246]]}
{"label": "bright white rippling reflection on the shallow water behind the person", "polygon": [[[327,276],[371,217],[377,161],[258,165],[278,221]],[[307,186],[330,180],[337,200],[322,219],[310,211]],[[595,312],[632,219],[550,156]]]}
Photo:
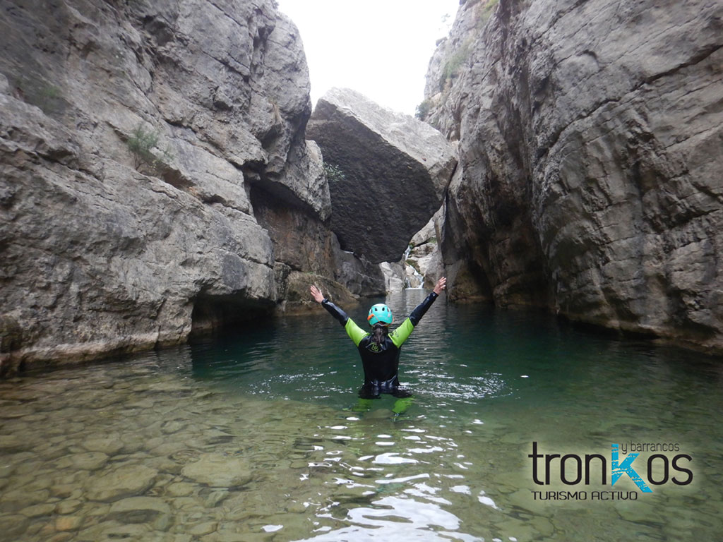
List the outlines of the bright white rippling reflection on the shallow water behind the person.
{"label": "bright white rippling reflection on the shallow water behind the person", "polygon": [[345,424],[314,435],[345,447],[311,450],[312,458],[319,459],[308,463],[304,480],[323,476],[331,465],[347,476],[325,481],[338,501],[317,507],[312,532],[318,534],[299,540],[482,540],[461,530],[462,520],[448,509],[453,502],[446,494],[473,499],[469,486],[459,483],[465,476],[448,472],[448,465],[458,470],[474,466],[459,453],[458,444],[417,423],[401,425],[385,416],[388,411],[367,414],[369,418],[348,416]]}

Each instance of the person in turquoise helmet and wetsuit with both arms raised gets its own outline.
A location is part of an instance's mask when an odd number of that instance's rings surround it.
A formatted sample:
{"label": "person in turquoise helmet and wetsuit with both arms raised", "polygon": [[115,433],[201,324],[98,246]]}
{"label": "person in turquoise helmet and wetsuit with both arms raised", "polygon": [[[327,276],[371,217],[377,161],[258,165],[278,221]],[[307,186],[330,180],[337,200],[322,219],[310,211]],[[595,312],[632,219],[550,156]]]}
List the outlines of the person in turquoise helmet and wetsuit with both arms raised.
{"label": "person in turquoise helmet and wetsuit with both arms raised", "polygon": [[382,393],[390,393],[394,397],[411,396],[411,392],[399,384],[399,353],[404,341],[408,339],[414,327],[419,324],[419,320],[446,285],[446,278],[442,277],[437,280],[434,291],[417,305],[409,317],[393,332],[389,331],[393,320],[392,311],[385,304],[376,304],[369,309],[367,322],[372,326],[372,332],[367,332],[356,325],[346,312],[325,298],[319,288],[311,286],[314,301],[320,303],[343,325],[347,335],[359,349],[361,364],[364,366],[364,385],[359,390],[359,397],[377,399]]}

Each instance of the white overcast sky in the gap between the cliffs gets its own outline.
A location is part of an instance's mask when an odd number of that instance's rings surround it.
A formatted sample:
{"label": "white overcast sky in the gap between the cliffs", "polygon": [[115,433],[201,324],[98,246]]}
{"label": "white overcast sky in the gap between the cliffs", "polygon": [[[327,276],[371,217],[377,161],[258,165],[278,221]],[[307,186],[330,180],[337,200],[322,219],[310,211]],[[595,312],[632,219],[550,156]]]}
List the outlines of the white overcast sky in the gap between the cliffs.
{"label": "white overcast sky in the gap between the cliffs", "polygon": [[424,74],[454,20],[459,0],[277,0],[299,27],[312,105],[331,87],[358,90],[414,114]]}

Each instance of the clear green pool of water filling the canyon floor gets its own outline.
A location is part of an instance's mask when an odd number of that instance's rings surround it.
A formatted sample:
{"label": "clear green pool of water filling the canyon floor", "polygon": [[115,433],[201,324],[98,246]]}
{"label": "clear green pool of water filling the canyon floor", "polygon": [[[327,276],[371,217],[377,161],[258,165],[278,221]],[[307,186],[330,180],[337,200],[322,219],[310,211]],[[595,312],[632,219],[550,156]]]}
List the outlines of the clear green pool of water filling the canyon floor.
{"label": "clear green pool of water filling the canyon floor", "polygon": [[[388,298],[403,317],[421,291]],[[364,322],[366,305],[349,312]],[[723,360],[437,301],[401,357],[409,405],[360,404],[328,314],[0,383],[2,541],[714,541]],[[395,413],[394,410],[403,410]],[[607,481],[532,480],[599,454]],[[611,444],[658,452],[643,493]],[[629,450],[628,450],[629,451]],[[643,451],[632,464],[648,480]],[[692,474],[672,468],[677,465]],[[620,462],[625,459],[620,455]],[[556,463],[557,461],[557,463]],[[539,462],[544,468],[544,460]],[[574,478],[574,459],[566,476]],[[541,471],[540,476],[544,476]],[[533,491],[577,493],[540,500]],[[636,496],[636,500],[599,500]],[[586,498],[582,498],[582,494]],[[539,494],[537,494],[540,496]],[[559,496],[559,493],[555,493]]]}

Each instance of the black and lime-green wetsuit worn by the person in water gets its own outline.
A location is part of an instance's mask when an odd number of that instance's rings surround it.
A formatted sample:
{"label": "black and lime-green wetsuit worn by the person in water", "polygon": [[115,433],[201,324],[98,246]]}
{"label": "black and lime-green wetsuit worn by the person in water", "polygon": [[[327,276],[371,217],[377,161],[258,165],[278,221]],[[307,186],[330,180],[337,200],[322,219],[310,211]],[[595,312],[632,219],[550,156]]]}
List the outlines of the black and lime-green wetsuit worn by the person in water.
{"label": "black and lime-green wetsuit worn by the person in water", "polygon": [[346,333],[354,341],[356,348],[359,348],[361,363],[364,365],[364,385],[359,390],[359,397],[363,399],[374,399],[380,393],[390,393],[395,397],[408,397],[411,392],[405,390],[399,384],[399,352],[414,330],[416,324],[422,319],[437,294],[432,292],[427,298],[411,311],[409,317],[402,322],[393,332],[390,332],[380,344],[372,340],[372,335],[361,329],[354,320],[346,315],[346,312],[331,303],[328,299],[322,301],[322,306],[335,319],[341,322]]}

